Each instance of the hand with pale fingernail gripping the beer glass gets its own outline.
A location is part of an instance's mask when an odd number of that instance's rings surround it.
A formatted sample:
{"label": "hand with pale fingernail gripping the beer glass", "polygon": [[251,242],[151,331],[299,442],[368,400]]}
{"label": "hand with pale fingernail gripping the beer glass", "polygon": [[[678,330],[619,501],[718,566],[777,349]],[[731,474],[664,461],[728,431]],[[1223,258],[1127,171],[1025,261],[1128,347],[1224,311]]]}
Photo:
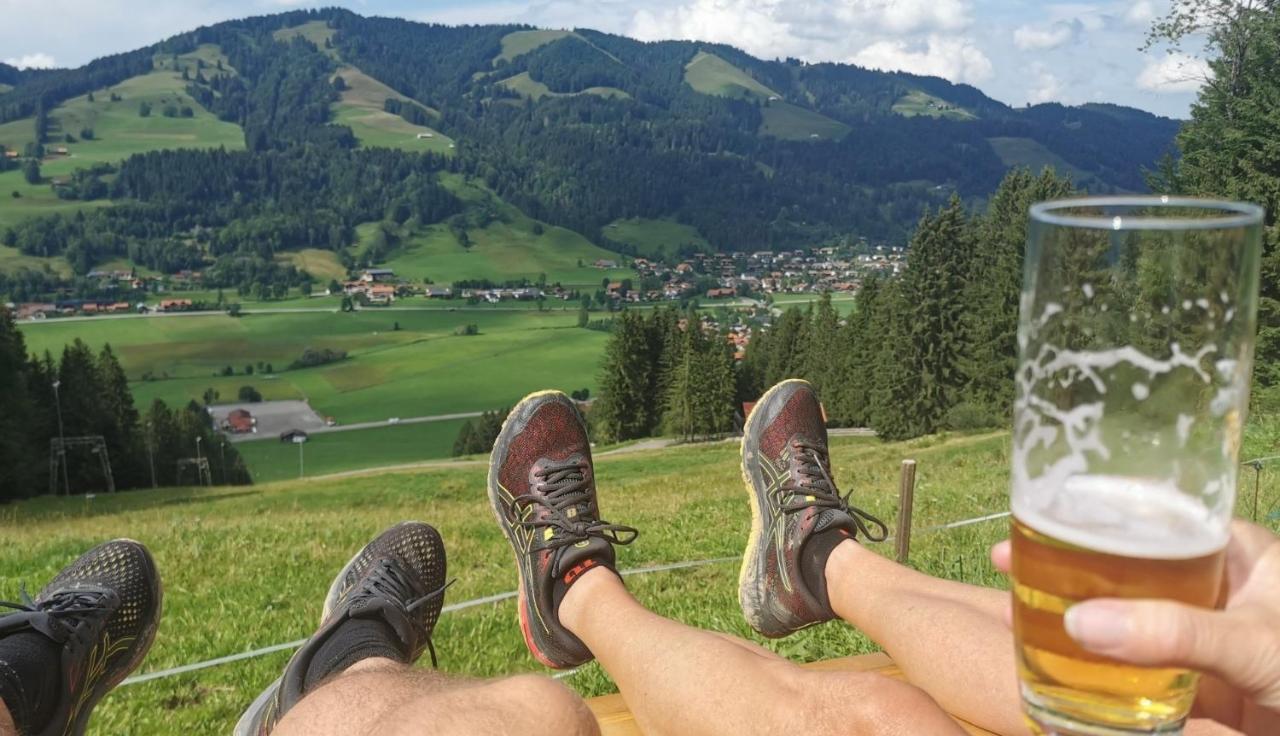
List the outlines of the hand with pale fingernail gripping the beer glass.
{"label": "hand with pale fingernail gripping the beer glass", "polygon": [[[1010,568],[1010,544],[992,549]],[[1280,732],[1280,538],[1243,521],[1226,549],[1226,605],[1094,599],[1068,609],[1066,632],[1084,649],[1147,667],[1208,673],[1210,714],[1249,733]],[[1202,698],[1203,700],[1203,698]]]}

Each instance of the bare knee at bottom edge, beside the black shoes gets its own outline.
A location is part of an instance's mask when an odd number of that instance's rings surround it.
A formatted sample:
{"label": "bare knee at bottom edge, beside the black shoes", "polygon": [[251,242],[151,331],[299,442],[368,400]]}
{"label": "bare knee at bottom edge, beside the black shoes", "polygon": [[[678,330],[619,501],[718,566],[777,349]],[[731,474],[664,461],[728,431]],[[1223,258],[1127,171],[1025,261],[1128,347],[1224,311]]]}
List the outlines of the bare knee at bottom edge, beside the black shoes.
{"label": "bare knee at bottom edge, beside the black shoes", "polygon": [[303,698],[275,736],[598,736],[581,698],[538,675],[465,680],[366,659]]}

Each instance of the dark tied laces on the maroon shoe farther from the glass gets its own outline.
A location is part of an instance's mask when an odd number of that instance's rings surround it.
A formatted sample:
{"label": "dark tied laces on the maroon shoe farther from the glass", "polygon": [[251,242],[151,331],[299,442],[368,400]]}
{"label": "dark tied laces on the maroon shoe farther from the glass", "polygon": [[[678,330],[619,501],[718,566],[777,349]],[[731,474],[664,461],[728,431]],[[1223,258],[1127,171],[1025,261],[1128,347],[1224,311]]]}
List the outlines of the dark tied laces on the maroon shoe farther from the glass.
{"label": "dark tied laces on the maroon shoe farther from the glass", "polygon": [[[548,463],[535,472],[540,483],[535,484],[536,493],[517,495],[512,502],[512,511],[518,512],[525,506],[540,506],[548,513],[534,515],[532,518],[520,520],[516,525],[525,529],[552,529],[554,534],[545,540],[545,548],[557,553],[557,570],[559,568],[559,554],[564,548],[586,541],[588,539],[603,539],[611,544],[631,544],[640,532],[621,524],[609,524],[594,518],[591,513],[591,483],[588,480],[588,463],[584,460],[573,460],[563,463]],[[573,516],[568,511],[573,509]]]}

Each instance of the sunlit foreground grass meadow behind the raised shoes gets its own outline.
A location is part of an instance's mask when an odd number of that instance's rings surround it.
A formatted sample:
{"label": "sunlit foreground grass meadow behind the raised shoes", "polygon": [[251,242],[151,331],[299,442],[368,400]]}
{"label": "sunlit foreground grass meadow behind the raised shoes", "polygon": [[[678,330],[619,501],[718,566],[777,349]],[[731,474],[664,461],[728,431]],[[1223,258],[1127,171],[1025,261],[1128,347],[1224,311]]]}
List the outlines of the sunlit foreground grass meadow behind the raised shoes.
{"label": "sunlit foreground grass meadow behind the raised shoes", "polygon": [[[1275,421],[1254,422],[1245,454],[1266,454],[1277,440]],[[1005,536],[1006,522],[924,530],[1007,508],[1007,444],[1004,433],[900,444],[836,439],[832,462],[842,486],[855,489],[858,504],[892,524],[899,463],[915,458],[911,566],[1002,586],[987,549]],[[620,548],[620,568],[741,554],[750,515],[737,462],[733,444],[600,458],[605,517],[641,530],[635,544]],[[332,576],[347,558],[390,524],[419,518],[444,535],[449,575],[457,577],[447,603],[460,603],[516,588],[509,552],[485,507],[484,477],[484,467],[433,468],[0,507],[0,589],[14,594],[22,580],[38,589],[101,539],[123,535],[146,543],[165,577],[166,596],[164,625],[141,672],[157,671],[307,636]],[[1277,509],[1277,486],[1280,476],[1268,468],[1262,476],[1263,516]],[[876,549],[891,553],[888,545]],[[745,636],[797,660],[877,649],[842,623],[762,640],[748,631],[739,611],[736,579],[737,564],[730,562],[632,576],[627,585],[664,616]],[[443,616],[435,645],[449,673],[544,672],[524,648],[511,600]],[[227,733],[288,657],[282,652],[122,687],[100,707],[91,733]],[[564,682],[584,695],[613,690],[598,664]]]}

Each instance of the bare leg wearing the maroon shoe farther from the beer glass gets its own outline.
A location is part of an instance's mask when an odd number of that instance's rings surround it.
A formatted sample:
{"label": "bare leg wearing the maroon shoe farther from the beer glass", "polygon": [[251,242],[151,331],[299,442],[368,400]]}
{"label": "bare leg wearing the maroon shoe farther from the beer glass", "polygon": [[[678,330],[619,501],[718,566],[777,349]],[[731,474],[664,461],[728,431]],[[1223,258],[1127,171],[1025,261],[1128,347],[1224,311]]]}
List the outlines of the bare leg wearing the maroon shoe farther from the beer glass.
{"label": "bare leg wearing the maroon shoe farther from the beer glass", "polygon": [[604,568],[570,588],[559,618],[618,684],[646,736],[963,733],[922,690],[873,673],[801,669],[669,621]]}

